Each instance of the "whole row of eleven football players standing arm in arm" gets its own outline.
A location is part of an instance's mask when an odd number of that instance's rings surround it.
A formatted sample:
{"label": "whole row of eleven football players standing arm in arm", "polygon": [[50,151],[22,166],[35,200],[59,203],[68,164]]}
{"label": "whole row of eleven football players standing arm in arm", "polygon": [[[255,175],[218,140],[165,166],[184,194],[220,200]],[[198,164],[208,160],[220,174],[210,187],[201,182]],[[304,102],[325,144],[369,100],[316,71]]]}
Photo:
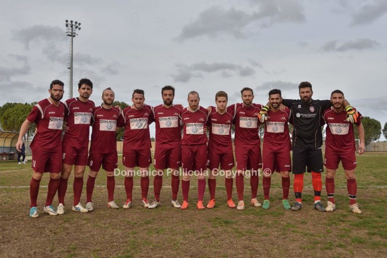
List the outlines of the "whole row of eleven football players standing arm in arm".
{"label": "whole row of eleven football players standing arm in arm", "polygon": [[[200,106],[200,97],[196,91],[188,93],[188,106],[174,105],[175,89],[165,86],[161,90],[163,103],[151,107],[144,103],[144,91],[133,91],[133,104],[121,110],[113,106],[114,91],[107,88],[102,92],[102,104],[95,106],[89,100],[93,92],[93,83],[81,79],[78,84],[79,97],[60,100],[63,97],[64,84],[54,80],[48,90],[50,96],[39,101],[31,110],[20,128],[16,144],[18,151],[23,146],[23,137],[29,126],[36,123],[37,133],[31,142],[32,178],[30,182],[30,214],[39,217],[37,198],[40,180],[44,172],[49,172],[47,198],[44,213],[55,216],[64,214],[64,197],[68,180],[74,166],[74,202],[73,211],[91,212],[95,209],[92,201],[95,178],[102,168],[106,171],[108,192],[107,207],[118,209],[114,202],[115,177],[118,157],[116,132],[124,128],[122,163],[125,168],[124,186],[126,202],[123,209],[133,204],[133,175],[135,168],[141,172],[141,203],[145,208],[154,209],[160,206],[160,190],[165,169],[171,174],[171,205],[179,209],[188,208],[190,178],[198,176],[197,208],[202,210],[214,208],[216,175],[220,168],[225,172],[227,192],[226,205],[243,210],[244,177],[249,172],[251,186],[250,204],[263,209],[270,208],[271,175],[281,173],[282,205],[285,210],[298,211],[302,207],[301,193],[305,171],[312,176],[314,190],[314,208],[320,212],[333,212],[335,206],[335,174],[339,162],[342,162],[347,177],[349,210],[360,214],[356,201],[357,184],[355,179],[356,156],[353,124],[356,124],[360,144],[358,152],[364,152],[364,128],[361,114],[344,99],[340,90],[331,94],[330,100],[312,99],[312,85],[301,82],[300,99],[282,99],[278,89],[269,92],[266,105],[253,103],[254,95],[250,88],[243,88],[242,103],[229,105],[227,93],[219,91],[215,95],[215,106]],[[149,166],[152,163],[149,124],[156,124],[156,146],[154,167],[154,202],[148,203]],[[293,124],[290,141],[288,122]],[[321,126],[326,123],[326,151],[322,160]],[[231,127],[235,124],[235,165],[231,139]],[[91,146],[89,130],[92,126]],[[263,152],[259,127],[265,126]],[[62,131],[64,136],[62,138]],[[181,133],[182,132],[182,133]],[[207,137],[207,132],[209,137]],[[290,151],[293,151],[292,162]],[[328,204],[321,204],[321,172],[327,169],[326,189]],[[86,165],[90,172],[86,182],[86,206],[81,205],[81,194],[84,185]],[[181,167],[182,178],[179,176]],[[206,189],[205,173],[208,169],[208,188],[210,201],[203,204]],[[259,170],[263,170],[264,202],[257,200]],[[195,171],[195,173],[193,173]],[[294,174],[295,202],[290,206],[288,201],[290,178]],[[207,174],[207,173],[206,173]],[[183,202],[177,201],[181,179]],[[232,189],[235,179],[238,196],[237,205],[232,200]],[[52,200],[58,192],[58,207],[52,206]]]}

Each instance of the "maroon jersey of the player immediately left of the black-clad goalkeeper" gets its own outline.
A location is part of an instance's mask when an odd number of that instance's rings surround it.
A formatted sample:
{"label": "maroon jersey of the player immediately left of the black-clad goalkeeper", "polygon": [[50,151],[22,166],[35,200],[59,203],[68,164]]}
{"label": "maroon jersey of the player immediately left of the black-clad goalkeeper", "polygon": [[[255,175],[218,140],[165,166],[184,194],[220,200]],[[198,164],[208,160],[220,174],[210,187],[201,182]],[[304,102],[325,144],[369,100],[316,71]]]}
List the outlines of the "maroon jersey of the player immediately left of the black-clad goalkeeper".
{"label": "maroon jersey of the player immediately left of the black-clad goalkeeper", "polygon": [[264,147],[269,151],[290,151],[291,142],[288,121],[291,109],[276,112],[269,109],[268,120],[265,122]]}

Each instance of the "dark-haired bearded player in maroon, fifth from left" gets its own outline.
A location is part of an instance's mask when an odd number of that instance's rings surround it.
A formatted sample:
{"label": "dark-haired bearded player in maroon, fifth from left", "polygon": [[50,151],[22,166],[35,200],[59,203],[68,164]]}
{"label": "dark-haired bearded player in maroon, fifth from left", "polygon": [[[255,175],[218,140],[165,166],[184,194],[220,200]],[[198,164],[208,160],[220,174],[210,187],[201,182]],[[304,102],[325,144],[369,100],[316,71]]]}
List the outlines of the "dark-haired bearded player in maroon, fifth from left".
{"label": "dark-haired bearded player in maroon, fifth from left", "polygon": [[172,170],[171,204],[175,208],[180,208],[177,202],[177,192],[179,191],[179,167],[181,165],[181,125],[179,114],[182,109],[180,105],[173,105],[175,88],[165,86],[161,89],[163,104],[153,108],[154,120],[156,123],[156,146],[154,166],[157,175],[153,179],[153,189],[155,201],[149,206],[153,209],[160,206],[160,191],[163,185],[164,169]]}

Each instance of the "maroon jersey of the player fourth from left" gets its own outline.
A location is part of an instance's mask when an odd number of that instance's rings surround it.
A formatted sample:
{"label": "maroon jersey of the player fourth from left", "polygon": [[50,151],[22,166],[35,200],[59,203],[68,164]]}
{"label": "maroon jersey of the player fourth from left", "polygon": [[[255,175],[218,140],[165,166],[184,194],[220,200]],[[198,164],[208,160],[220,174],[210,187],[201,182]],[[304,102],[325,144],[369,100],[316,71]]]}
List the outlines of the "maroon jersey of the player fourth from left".
{"label": "maroon jersey of the player fourth from left", "polygon": [[150,149],[152,145],[148,125],[153,122],[152,107],[145,105],[140,110],[126,107],[121,117],[125,123],[122,150]]}

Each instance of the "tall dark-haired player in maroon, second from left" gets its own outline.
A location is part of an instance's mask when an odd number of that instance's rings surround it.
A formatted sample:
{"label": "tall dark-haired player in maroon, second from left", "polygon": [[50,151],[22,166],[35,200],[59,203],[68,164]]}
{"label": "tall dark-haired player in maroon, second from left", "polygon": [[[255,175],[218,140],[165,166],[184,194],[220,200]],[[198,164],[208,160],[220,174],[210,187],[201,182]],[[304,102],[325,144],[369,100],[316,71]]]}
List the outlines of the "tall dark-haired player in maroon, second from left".
{"label": "tall dark-haired player in maroon, second from left", "polygon": [[74,165],[74,202],[73,211],[86,213],[80,201],[83,188],[83,175],[88,160],[89,133],[92,122],[94,102],[89,100],[93,92],[93,83],[89,79],[81,79],[78,83],[79,97],[66,100],[65,123],[66,133],[63,136],[63,166],[59,178],[58,214],[64,214],[64,196],[67,183]]}

